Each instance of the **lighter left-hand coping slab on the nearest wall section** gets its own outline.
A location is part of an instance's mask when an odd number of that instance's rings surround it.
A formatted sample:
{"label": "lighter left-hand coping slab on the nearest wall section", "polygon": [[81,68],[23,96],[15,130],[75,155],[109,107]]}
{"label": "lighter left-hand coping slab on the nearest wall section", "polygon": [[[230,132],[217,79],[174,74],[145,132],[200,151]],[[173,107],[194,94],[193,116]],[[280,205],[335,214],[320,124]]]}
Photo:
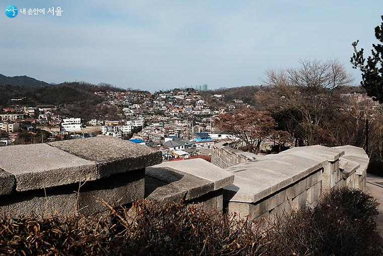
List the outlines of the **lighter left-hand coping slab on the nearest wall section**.
{"label": "lighter left-hand coping slab on the nearest wall section", "polygon": [[0,168],[15,176],[17,191],[98,178],[94,162],[47,144],[0,147]]}

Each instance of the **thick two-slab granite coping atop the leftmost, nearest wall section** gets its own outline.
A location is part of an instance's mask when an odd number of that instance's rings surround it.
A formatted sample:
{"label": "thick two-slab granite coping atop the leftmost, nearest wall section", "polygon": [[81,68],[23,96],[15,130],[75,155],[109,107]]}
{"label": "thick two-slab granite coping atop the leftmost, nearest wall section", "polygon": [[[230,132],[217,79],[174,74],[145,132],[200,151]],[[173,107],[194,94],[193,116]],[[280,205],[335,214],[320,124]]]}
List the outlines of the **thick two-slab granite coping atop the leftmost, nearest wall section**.
{"label": "thick two-slab granite coping atop the leftmost, nearest wall section", "polygon": [[0,195],[97,180],[161,162],[160,151],[109,136],[0,147]]}

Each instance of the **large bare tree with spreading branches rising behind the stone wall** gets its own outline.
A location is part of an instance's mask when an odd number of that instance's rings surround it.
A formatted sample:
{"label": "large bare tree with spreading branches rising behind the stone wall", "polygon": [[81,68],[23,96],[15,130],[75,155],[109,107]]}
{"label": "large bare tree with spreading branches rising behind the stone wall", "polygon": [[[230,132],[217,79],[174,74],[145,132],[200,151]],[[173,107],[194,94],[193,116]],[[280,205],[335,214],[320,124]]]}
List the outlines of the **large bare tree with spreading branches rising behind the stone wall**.
{"label": "large bare tree with spreading branches rising behind the stone wall", "polygon": [[256,97],[270,112],[283,113],[293,120],[295,126],[290,129],[299,134],[292,135],[312,145],[325,116],[340,106],[339,93],[335,92],[352,81],[336,60],[300,61],[297,68],[267,71],[263,81],[266,88]]}

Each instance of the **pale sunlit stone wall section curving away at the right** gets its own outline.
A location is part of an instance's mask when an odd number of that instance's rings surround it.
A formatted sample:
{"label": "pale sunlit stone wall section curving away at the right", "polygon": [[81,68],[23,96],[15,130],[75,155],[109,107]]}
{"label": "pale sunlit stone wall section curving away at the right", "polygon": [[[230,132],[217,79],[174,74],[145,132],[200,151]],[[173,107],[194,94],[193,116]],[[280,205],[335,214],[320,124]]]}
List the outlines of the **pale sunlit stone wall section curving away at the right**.
{"label": "pale sunlit stone wall section curving away at the right", "polygon": [[[212,160],[219,161],[221,156],[213,155]],[[291,148],[226,168],[234,174],[234,182],[224,188],[224,201],[229,213],[273,220],[292,210],[314,207],[333,187],[364,190],[368,162],[362,148],[349,145]]]}

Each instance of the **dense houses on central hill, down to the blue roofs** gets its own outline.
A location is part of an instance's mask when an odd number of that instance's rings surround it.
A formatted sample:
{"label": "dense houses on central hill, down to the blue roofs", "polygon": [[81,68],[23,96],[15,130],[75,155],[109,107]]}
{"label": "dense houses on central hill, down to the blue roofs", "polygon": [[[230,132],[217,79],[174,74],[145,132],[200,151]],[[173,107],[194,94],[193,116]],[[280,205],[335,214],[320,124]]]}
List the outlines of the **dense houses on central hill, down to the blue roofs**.
{"label": "dense houses on central hill, down to the blue roofs", "polygon": [[164,160],[189,159],[207,155],[217,141],[227,135],[214,134],[215,116],[225,108],[211,109],[195,90],[167,92],[96,92],[105,97],[103,104],[121,108],[121,119],[91,120],[101,134],[155,147]]}

